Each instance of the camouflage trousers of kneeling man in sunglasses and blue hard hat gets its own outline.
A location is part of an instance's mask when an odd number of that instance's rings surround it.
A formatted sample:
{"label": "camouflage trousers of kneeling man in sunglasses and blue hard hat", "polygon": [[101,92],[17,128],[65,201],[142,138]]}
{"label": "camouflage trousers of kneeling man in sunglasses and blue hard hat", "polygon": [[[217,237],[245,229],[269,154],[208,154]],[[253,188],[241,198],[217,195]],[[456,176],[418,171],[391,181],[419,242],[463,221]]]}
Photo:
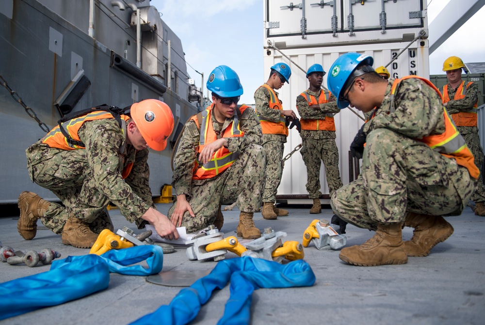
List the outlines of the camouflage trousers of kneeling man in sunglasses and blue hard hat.
{"label": "camouflage trousers of kneeling man in sunglasses and blue hard hat", "polygon": [[[266,153],[263,147],[250,144],[221,175],[205,180],[192,180],[191,196],[187,201],[195,217],[191,217],[186,211],[182,227],[186,227],[187,232],[199,231],[214,223],[221,204],[231,204],[236,200],[241,211],[259,211],[265,164]],[[169,209],[169,218],[172,217],[176,204],[177,201],[174,201]]]}

